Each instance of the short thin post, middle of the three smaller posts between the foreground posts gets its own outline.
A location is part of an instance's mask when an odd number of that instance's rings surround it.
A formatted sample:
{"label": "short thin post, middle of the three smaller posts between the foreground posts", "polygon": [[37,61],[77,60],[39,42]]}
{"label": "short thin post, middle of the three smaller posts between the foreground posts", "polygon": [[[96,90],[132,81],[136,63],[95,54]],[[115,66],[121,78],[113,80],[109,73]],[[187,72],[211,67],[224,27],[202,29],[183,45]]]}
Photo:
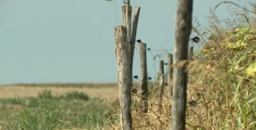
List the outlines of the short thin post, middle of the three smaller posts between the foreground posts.
{"label": "short thin post, middle of the three smaller posts between the foreground posts", "polygon": [[159,111],[162,113],[162,99],[164,88],[164,61],[159,61]]}

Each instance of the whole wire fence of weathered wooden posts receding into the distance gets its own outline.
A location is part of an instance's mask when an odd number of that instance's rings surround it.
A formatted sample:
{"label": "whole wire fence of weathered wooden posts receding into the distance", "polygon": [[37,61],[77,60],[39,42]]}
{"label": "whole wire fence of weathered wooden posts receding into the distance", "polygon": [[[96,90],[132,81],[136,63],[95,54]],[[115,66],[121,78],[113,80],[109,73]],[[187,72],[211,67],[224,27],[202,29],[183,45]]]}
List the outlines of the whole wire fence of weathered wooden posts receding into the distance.
{"label": "whole wire fence of weathered wooden posts receding into the distance", "polygon": [[[185,1],[179,1],[182,6],[188,6],[185,4]],[[184,2],[184,3],[182,3]],[[174,63],[172,60],[173,54],[168,51],[172,51],[173,49],[162,49],[162,50],[152,50],[151,48],[146,48],[146,43],[143,43],[141,40],[136,40],[136,31],[138,24],[138,16],[140,7],[135,8],[134,12],[134,21],[133,26],[131,28],[131,6],[123,6],[123,26],[115,27],[115,53],[117,57],[117,67],[118,67],[118,81],[119,81],[119,101],[120,101],[120,127],[121,130],[132,130],[132,119],[131,119],[131,87],[133,86],[133,77],[136,80],[140,80],[140,89],[141,89],[141,103],[142,108],[141,112],[147,113],[148,107],[148,80],[152,80],[151,77],[147,75],[147,54],[146,52],[150,52],[153,57],[154,63],[157,61],[157,58],[162,58],[167,56],[167,63],[164,63],[163,60],[159,60],[159,112],[162,113],[162,99],[163,99],[163,90],[164,90],[164,64],[168,65],[168,96],[172,96],[172,129],[185,129],[185,111],[186,111],[186,87],[187,87],[187,73],[185,71],[185,67],[178,68],[177,66],[173,66],[173,64],[177,63],[180,60],[187,60],[188,57],[193,54],[192,51],[189,52],[188,56],[188,41],[189,34],[191,33],[191,27],[188,27],[182,30],[177,24],[176,26],[176,43],[175,43],[175,58]],[[179,7],[180,8],[180,7]],[[191,7],[192,8],[192,7]],[[185,14],[182,14],[185,15]],[[189,16],[190,17],[190,16]],[[182,21],[181,16],[177,16],[178,20]],[[191,20],[191,19],[189,19]],[[182,22],[178,22],[182,23]],[[190,24],[185,24],[185,26],[191,26]],[[189,32],[190,29],[190,32]],[[180,31],[180,32],[179,32]],[[182,32],[183,31],[183,32]],[[188,33],[189,32],[189,33]],[[180,38],[183,37],[183,38]],[[180,38],[180,39],[179,39]],[[136,43],[138,42],[138,43]],[[181,46],[179,46],[179,45]],[[140,51],[140,73],[141,78],[138,79],[138,76],[132,75],[133,70],[133,57],[134,50],[138,48],[135,45],[139,46]],[[184,46],[183,46],[184,45]],[[165,52],[154,55],[152,52]],[[155,70],[156,72],[156,70]],[[156,73],[155,73],[156,74]],[[154,77],[155,78],[155,77]],[[133,87],[134,88],[134,87]],[[134,92],[137,92],[134,91]],[[181,126],[181,127],[179,127]]]}

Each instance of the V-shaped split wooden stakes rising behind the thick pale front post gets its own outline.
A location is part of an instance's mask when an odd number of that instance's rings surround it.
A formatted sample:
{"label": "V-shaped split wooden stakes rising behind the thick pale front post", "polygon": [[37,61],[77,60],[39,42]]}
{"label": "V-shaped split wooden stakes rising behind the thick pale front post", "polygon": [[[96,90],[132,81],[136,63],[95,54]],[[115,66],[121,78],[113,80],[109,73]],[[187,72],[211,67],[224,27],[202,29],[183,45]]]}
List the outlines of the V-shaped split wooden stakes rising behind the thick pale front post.
{"label": "V-shaped split wooden stakes rising behind the thick pale front post", "polygon": [[134,57],[134,45],[135,45],[134,43],[135,43],[135,39],[136,39],[140,7],[135,7],[132,28],[131,28],[131,10],[132,10],[132,6],[129,6],[129,5],[122,6],[123,26],[125,26],[127,28],[127,40],[128,40],[128,42],[133,43],[133,44],[128,45],[129,54],[131,55],[131,62],[130,62],[131,86],[133,86],[132,73],[133,73],[133,57]]}

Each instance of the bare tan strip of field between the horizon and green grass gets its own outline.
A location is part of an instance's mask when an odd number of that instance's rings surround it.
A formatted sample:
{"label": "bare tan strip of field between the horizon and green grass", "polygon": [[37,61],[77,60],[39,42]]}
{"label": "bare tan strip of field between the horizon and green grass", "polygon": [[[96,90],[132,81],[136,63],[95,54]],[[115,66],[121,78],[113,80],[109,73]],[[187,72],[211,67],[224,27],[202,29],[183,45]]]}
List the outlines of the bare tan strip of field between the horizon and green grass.
{"label": "bare tan strip of field between the horizon and green grass", "polygon": [[51,90],[52,95],[60,95],[66,92],[78,91],[88,94],[90,97],[101,96],[113,98],[118,96],[116,86],[107,88],[75,88],[75,87],[25,87],[25,86],[3,86],[0,87],[0,98],[35,97],[44,90]]}

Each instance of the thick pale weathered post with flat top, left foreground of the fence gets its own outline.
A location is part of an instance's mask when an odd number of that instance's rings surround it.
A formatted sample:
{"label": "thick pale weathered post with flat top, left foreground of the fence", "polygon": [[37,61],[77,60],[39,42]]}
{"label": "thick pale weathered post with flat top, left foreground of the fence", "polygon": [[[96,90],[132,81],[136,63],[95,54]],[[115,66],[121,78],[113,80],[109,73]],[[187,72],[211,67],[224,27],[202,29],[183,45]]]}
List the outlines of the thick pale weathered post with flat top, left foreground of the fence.
{"label": "thick pale weathered post with flat top, left foreground of the fence", "polygon": [[117,57],[118,86],[120,98],[120,126],[121,130],[132,130],[131,120],[131,73],[127,41],[127,29],[125,26],[115,27],[115,53]]}

